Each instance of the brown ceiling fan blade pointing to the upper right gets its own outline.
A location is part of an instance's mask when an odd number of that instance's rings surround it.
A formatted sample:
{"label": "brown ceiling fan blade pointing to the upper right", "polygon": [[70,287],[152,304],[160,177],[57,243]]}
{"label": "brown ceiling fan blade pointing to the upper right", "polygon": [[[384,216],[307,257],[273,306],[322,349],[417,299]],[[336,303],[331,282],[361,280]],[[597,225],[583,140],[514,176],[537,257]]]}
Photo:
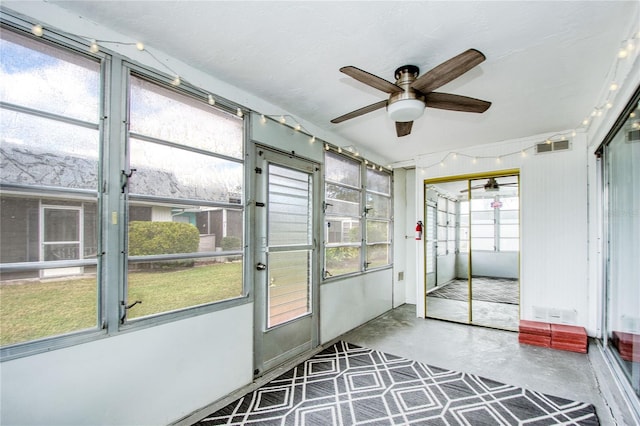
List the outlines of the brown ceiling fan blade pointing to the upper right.
{"label": "brown ceiling fan blade pointing to the upper right", "polygon": [[469,49],[427,71],[418,77],[411,84],[411,87],[422,93],[429,93],[460,77],[485,59],[486,57],[482,52],[476,49]]}

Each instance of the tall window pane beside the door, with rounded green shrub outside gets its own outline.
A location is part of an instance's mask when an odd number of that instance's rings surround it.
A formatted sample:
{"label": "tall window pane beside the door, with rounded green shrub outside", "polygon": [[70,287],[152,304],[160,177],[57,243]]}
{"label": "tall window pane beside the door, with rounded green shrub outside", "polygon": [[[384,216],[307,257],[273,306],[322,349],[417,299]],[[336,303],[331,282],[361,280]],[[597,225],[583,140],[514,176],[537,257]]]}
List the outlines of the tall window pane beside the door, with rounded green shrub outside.
{"label": "tall window pane beside the door, with rounded green shrub outside", "polygon": [[242,130],[131,75],[128,319],[242,295]]}

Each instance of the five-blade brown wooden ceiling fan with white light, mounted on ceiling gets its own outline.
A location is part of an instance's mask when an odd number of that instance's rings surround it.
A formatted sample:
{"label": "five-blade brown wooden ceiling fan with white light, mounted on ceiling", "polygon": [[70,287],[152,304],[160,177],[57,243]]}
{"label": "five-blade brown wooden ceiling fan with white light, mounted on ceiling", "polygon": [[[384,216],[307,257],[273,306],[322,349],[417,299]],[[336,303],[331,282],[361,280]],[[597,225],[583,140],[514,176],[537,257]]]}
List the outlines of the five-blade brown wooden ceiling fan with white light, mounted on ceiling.
{"label": "five-blade brown wooden ceiling fan with white light, mounted on ceiling", "polygon": [[413,120],[419,118],[425,107],[447,109],[451,111],[485,112],[491,102],[451,93],[434,92],[440,86],[460,77],[486,58],[476,49],[469,49],[420,74],[415,65],[404,65],[396,69],[396,82],[370,74],[353,66],[340,68],[349,77],[389,94],[389,99],[359,108],[331,120],[337,124],[351,118],[387,107],[389,118],[396,122],[398,137],[411,133]]}

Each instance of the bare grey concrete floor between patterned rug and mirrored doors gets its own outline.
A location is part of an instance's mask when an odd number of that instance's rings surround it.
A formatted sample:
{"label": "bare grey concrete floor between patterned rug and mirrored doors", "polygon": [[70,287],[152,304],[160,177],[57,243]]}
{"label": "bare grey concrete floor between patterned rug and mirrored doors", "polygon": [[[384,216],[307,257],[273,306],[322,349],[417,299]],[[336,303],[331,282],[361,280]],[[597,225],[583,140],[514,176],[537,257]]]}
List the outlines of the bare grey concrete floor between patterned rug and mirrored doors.
{"label": "bare grey concrete floor between patterned rug and mirrored doors", "polygon": [[415,305],[400,306],[340,340],[588,402],[596,407],[602,425],[638,424],[592,339],[586,355],[541,348],[518,343],[518,334],[511,331],[416,318],[415,309]]}

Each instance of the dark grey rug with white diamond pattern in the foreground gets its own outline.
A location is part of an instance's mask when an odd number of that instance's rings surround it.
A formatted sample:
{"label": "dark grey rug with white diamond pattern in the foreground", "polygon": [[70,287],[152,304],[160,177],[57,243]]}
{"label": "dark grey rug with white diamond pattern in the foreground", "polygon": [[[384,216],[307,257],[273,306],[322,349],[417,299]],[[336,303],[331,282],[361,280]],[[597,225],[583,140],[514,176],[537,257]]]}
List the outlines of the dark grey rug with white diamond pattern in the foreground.
{"label": "dark grey rug with white diamond pattern in the foreground", "polygon": [[338,342],[197,425],[599,425],[593,405]]}

